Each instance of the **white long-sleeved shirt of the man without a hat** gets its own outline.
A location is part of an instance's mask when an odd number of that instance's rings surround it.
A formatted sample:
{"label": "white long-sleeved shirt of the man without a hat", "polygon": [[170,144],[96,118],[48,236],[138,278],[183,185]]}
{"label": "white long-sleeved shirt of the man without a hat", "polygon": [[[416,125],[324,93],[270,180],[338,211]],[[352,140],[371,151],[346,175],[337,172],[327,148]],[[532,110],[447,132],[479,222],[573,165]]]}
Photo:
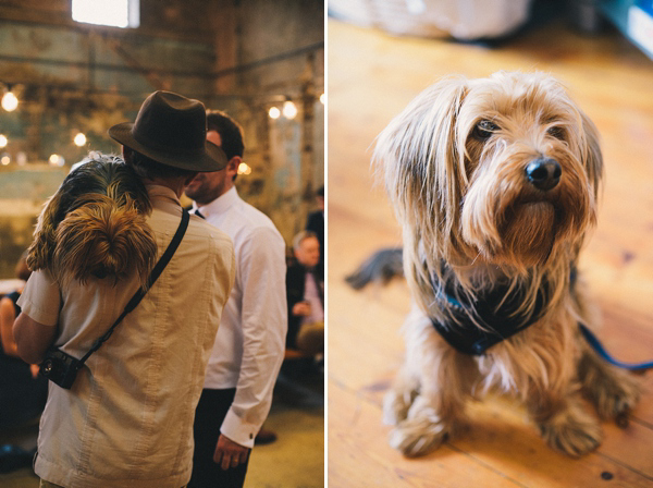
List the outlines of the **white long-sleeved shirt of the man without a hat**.
{"label": "white long-sleeved shirt of the man without a hat", "polygon": [[199,207],[236,253],[236,282],[209,358],[206,389],[236,388],[220,431],[251,448],[272,404],[285,347],[285,242],[272,221],[232,187]]}

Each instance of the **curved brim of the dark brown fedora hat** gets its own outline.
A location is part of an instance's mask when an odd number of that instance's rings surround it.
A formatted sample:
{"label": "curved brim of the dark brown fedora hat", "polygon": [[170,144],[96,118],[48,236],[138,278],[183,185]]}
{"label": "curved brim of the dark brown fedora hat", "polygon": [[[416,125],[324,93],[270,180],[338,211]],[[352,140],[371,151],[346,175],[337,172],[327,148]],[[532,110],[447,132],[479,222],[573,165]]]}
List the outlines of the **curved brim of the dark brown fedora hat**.
{"label": "curved brim of the dark brown fedora hat", "polygon": [[212,172],[220,171],[226,167],[226,155],[219,146],[206,141],[205,150],[201,154],[188,155],[187,152],[174,154],[170,150],[158,150],[147,147],[136,141],[132,134],[132,122],[113,125],[109,129],[109,136],[123,146],[134,149],[148,158],[165,166],[189,171]]}

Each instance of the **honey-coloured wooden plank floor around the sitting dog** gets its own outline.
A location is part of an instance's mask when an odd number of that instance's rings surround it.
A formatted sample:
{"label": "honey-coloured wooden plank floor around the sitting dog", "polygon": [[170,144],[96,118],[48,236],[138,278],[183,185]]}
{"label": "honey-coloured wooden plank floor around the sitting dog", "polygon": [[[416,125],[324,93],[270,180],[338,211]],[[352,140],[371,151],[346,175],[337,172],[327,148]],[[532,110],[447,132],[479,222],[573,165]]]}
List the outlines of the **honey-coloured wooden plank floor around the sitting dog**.
{"label": "honey-coloured wooden plank floor around the sitting dog", "polygon": [[617,33],[586,37],[563,24],[493,50],[333,20],[328,35],[329,486],[652,487],[653,373],[629,427],[604,423],[603,444],[580,460],[546,448],[525,413],[500,399],[472,406],[464,436],[403,457],[386,442],[381,402],[402,362],[408,291],[395,281],[354,292],[343,278],[371,252],[401,245],[369,169],[373,138],[394,114],[441,75],[551,72],[602,133],[606,185],[581,260],[603,310],[600,335],[624,361],[653,359],[653,62]]}

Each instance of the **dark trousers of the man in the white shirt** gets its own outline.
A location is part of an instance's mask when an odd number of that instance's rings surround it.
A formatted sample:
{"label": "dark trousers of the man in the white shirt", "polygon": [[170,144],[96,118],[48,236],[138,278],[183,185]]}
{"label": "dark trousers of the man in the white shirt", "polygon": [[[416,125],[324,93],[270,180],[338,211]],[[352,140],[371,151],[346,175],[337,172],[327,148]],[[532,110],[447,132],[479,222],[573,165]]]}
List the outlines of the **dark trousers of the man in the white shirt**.
{"label": "dark trousers of the man in the white shirt", "polygon": [[220,427],[231,407],[236,389],[202,390],[193,426],[195,451],[193,453],[193,475],[188,488],[241,488],[245,484],[247,464],[222,469],[213,462]]}

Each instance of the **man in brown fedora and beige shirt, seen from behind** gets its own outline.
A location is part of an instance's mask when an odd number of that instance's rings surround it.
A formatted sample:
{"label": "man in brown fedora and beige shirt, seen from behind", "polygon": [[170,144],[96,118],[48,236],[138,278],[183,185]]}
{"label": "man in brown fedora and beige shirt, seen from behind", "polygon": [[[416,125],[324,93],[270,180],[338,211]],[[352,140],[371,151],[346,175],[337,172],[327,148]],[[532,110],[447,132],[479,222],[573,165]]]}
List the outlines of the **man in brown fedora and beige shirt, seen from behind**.
{"label": "man in brown fedora and beige shirt, seen from behind", "polygon": [[[204,105],[169,91],[150,95],[135,123],[115,125],[109,135],[146,185],[152,206],[146,222],[160,257],[182,220],[185,186],[200,171],[223,169],[226,157],[206,142]],[[35,461],[41,486],[188,483],[195,407],[234,277],[230,239],[192,216],[163,272],[89,356],[71,389],[50,385]],[[136,277],[82,284],[34,272],[14,328],[19,352],[38,363],[54,344],[79,358],[138,288]]]}

